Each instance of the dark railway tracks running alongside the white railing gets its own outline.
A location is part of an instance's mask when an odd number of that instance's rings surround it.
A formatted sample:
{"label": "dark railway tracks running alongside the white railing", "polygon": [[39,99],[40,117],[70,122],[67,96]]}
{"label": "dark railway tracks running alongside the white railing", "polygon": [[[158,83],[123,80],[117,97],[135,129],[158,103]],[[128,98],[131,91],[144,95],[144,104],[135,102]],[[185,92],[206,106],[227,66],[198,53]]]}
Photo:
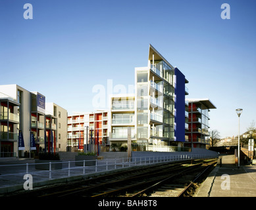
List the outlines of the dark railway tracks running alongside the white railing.
{"label": "dark railway tracks running alongside the white railing", "polygon": [[[186,176],[197,177],[199,171],[205,168],[204,165],[209,165],[216,161],[216,159],[197,159],[193,160],[193,163],[191,160],[164,163],[144,169],[132,169],[93,179],[58,184],[57,186],[32,190],[21,195],[45,198],[65,198],[69,196],[151,196],[152,192],[156,192],[157,189],[167,189],[168,184],[170,185],[172,182],[172,184],[177,185],[178,179],[185,180],[184,177]],[[193,173],[196,175],[192,175]],[[181,181],[179,180],[179,182]],[[180,184],[180,186],[183,186],[182,189],[184,190],[184,184]],[[20,196],[20,194],[16,194],[16,196]]]}

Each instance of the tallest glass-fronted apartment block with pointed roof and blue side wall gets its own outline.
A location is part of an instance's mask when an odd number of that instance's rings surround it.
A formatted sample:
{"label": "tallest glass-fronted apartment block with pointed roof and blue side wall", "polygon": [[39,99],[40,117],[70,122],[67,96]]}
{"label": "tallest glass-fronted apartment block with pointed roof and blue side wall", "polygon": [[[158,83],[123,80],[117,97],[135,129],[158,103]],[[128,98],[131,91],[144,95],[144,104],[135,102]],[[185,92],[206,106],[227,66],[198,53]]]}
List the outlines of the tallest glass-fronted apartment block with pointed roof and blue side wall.
{"label": "tallest glass-fronted apartment block with pointed roof and blue side wall", "polygon": [[184,74],[149,45],[147,67],[135,68],[134,95],[111,96],[111,143],[127,142],[127,127],[131,127],[132,142],[141,150],[183,148],[188,140],[186,83]]}

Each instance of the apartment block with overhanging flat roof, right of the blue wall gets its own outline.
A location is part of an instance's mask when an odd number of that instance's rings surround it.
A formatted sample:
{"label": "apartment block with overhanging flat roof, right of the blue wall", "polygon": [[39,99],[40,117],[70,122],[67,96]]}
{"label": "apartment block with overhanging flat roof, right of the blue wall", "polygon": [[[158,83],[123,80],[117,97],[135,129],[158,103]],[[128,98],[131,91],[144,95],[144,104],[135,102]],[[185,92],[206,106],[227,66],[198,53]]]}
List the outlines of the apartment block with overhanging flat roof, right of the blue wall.
{"label": "apartment block with overhanging flat roof, right of the blue wall", "polygon": [[209,112],[216,109],[208,98],[188,99],[188,142],[186,146],[205,148],[209,144]]}

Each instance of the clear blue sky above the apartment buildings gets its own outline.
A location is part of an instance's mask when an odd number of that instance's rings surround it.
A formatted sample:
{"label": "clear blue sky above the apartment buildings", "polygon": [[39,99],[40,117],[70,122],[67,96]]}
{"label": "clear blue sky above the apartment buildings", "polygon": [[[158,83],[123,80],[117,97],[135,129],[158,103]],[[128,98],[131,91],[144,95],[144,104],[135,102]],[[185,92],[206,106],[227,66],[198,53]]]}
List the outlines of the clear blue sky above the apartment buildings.
{"label": "clear blue sky above the apartment buildings", "polygon": [[[68,110],[92,111],[94,85],[134,85],[149,43],[209,98],[211,129],[238,134],[256,121],[256,1],[0,0],[0,84],[38,91]],[[33,20],[25,20],[25,3]],[[222,20],[222,3],[230,20]]]}

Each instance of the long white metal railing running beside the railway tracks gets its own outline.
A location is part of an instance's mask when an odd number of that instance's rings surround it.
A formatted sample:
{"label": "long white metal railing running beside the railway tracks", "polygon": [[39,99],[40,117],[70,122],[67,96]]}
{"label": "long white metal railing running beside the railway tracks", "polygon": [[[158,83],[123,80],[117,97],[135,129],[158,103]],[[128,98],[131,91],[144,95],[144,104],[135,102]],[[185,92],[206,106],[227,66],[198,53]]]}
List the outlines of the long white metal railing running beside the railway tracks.
{"label": "long white metal railing running beside the railway tracks", "polygon": [[[92,173],[124,169],[138,165],[151,165],[155,163],[199,158],[218,158],[218,154],[185,154],[176,156],[149,156],[136,158],[96,159],[91,161],[58,161],[49,163],[0,165],[0,189],[2,187],[23,184],[24,175],[26,174],[32,175],[33,182],[41,182],[43,180],[89,175]],[[77,166],[76,163],[78,162],[82,163],[82,166]],[[91,166],[87,166],[88,163],[93,162],[94,164],[89,164]],[[57,164],[61,164],[61,169],[56,167]],[[47,165],[48,168],[47,170],[38,170],[36,167],[39,165]]]}

